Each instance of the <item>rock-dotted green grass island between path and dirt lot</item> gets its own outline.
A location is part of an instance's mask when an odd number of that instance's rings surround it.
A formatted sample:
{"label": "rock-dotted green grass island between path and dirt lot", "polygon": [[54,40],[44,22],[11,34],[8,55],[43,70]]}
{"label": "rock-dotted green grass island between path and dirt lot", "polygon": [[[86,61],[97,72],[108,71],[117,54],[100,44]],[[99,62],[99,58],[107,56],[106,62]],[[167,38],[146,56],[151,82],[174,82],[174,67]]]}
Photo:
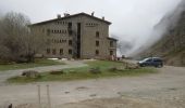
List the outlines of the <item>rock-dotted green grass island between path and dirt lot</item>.
{"label": "rock-dotted green grass island between path and dirt lot", "polygon": [[[50,75],[49,72],[41,73],[39,78],[25,78],[25,77],[13,77],[8,79],[8,82],[13,83],[28,83],[28,82],[42,82],[42,81],[72,81],[72,80],[86,80],[86,79],[98,79],[98,78],[112,78],[112,77],[135,77],[147,73],[156,73],[155,68],[140,68],[140,69],[125,69],[121,71],[110,71],[110,67],[122,67],[123,63],[96,60],[88,62],[89,66],[83,68],[72,68],[63,70],[63,75]],[[101,73],[90,73],[91,67],[99,67]]]}

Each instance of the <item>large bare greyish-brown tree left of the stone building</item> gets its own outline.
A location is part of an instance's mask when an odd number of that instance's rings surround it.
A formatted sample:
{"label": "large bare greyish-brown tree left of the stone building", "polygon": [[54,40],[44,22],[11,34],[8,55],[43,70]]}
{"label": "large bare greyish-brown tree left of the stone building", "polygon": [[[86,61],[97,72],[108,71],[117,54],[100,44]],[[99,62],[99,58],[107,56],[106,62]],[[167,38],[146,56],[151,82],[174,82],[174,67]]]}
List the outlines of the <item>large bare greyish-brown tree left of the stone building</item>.
{"label": "large bare greyish-brown tree left of the stone building", "polygon": [[0,18],[0,59],[7,62],[33,62],[44,44],[41,36],[35,36],[28,28],[29,18],[21,13],[10,12]]}

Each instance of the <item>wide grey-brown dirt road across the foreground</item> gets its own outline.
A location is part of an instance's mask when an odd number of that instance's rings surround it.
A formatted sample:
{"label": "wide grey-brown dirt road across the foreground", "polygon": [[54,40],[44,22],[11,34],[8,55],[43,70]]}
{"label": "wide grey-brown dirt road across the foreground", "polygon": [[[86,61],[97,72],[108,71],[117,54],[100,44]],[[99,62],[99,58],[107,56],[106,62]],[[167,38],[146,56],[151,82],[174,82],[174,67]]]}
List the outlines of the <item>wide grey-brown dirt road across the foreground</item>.
{"label": "wide grey-brown dirt road across the foreground", "polygon": [[159,71],[131,78],[1,85],[0,105],[37,108],[40,84],[41,104],[47,106],[49,84],[52,108],[185,108],[185,68],[165,66]]}

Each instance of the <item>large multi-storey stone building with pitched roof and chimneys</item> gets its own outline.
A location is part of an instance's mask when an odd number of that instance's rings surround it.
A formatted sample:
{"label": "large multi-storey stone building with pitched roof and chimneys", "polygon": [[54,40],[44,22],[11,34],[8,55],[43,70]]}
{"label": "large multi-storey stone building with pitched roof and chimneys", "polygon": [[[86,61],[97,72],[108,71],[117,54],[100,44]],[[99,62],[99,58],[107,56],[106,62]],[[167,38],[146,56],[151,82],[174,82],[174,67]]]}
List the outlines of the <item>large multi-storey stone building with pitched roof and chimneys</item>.
{"label": "large multi-storey stone building with pitched roof and chimneys", "polygon": [[57,18],[33,24],[30,29],[46,37],[45,57],[100,58],[116,55],[116,40],[109,38],[110,22],[86,13],[58,15]]}

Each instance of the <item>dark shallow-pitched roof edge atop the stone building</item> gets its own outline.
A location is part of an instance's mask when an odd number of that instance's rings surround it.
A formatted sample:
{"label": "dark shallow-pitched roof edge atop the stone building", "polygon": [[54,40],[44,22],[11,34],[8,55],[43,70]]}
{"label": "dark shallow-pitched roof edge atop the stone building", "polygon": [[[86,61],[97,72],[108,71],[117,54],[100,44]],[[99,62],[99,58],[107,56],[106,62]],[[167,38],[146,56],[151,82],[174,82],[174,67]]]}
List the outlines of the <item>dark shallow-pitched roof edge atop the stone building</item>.
{"label": "dark shallow-pitched roof edge atop the stone building", "polygon": [[78,13],[78,14],[73,14],[73,15],[69,15],[69,16],[64,16],[64,17],[60,17],[60,18],[53,18],[53,19],[49,19],[49,21],[45,21],[45,22],[40,22],[40,23],[36,23],[36,24],[32,24],[30,26],[42,25],[42,24],[47,24],[47,23],[51,23],[51,22],[55,22],[55,21],[60,21],[60,19],[66,19],[66,18],[71,18],[71,17],[76,17],[76,16],[79,16],[79,15],[85,15],[85,16],[91,17],[91,18],[94,18],[94,19],[97,19],[97,21],[100,21],[100,22],[107,23],[108,25],[110,25],[110,24],[111,24],[111,22],[108,22],[108,21],[101,19],[101,18],[99,18],[99,17],[91,16],[91,15],[86,14],[86,13]]}

